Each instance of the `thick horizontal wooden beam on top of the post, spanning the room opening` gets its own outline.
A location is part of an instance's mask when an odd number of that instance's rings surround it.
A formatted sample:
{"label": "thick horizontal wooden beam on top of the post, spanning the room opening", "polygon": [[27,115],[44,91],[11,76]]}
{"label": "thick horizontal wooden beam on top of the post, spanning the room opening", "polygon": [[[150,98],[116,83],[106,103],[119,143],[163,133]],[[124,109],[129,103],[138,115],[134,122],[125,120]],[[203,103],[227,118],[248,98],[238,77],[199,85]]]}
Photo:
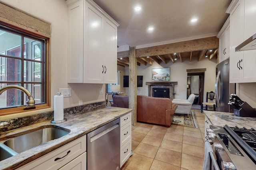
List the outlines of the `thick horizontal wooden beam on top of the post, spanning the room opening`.
{"label": "thick horizontal wooden beam on top of the post, spanning the room opening", "polygon": [[190,51],[199,51],[206,49],[216,49],[219,46],[217,37],[207,37],[154,47],[136,49],[136,57],[166,55],[171,53],[184,53]]}

